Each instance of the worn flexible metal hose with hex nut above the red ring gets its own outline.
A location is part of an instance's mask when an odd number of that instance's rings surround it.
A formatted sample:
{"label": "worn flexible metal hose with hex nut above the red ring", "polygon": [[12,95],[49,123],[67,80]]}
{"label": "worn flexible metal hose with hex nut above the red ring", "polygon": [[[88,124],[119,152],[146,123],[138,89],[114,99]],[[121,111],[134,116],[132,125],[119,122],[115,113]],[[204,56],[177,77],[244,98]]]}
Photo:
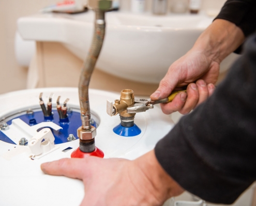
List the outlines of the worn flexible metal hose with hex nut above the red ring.
{"label": "worn flexible metal hose with hex nut above the red ring", "polygon": [[91,111],[89,106],[88,88],[91,76],[100,54],[105,35],[105,12],[109,11],[112,1],[109,0],[90,0],[89,7],[95,11],[95,29],[93,41],[86,60],[84,61],[79,80],[79,101],[81,109],[82,126],[78,128],[77,133],[80,139],[79,148],[82,152],[95,151],[96,128],[91,125]]}

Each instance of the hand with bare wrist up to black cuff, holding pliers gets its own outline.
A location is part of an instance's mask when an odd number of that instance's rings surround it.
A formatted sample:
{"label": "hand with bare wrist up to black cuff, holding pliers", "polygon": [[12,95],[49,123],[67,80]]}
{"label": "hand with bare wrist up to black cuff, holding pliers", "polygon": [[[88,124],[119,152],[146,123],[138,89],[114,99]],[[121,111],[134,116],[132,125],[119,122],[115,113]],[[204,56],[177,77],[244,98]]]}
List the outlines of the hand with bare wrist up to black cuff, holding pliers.
{"label": "hand with bare wrist up to black cuff, holding pliers", "polygon": [[[200,35],[193,48],[175,61],[150,98],[168,97],[172,91],[188,85],[172,102],[161,104],[163,113],[189,113],[211,95],[219,75],[220,62],[245,39],[242,29],[227,20],[216,19]],[[195,83],[194,83],[195,82]]]}

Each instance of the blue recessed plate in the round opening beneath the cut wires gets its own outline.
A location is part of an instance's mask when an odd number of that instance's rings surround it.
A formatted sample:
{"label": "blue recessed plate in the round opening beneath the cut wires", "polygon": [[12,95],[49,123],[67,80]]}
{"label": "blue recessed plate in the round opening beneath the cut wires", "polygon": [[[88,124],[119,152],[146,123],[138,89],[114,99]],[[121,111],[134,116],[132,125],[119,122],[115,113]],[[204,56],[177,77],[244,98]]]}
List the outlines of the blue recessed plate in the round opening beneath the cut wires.
{"label": "blue recessed plate in the round opening beneath the cut wires", "polygon": [[[65,119],[59,119],[57,110],[53,110],[52,112],[53,112],[52,120],[46,119],[43,116],[43,113],[41,111],[34,112],[33,115],[23,114],[15,118],[22,119],[22,121],[24,121],[26,124],[30,126],[41,123],[41,122],[49,122],[49,121],[54,122],[55,124],[61,126],[63,129],[60,129],[58,131],[55,131],[54,129],[50,128],[55,138],[54,144],[61,144],[61,143],[68,142],[67,138],[69,134],[73,134],[76,137],[76,139],[78,139],[77,129],[81,126],[80,112],[72,111],[71,113],[68,114],[68,117]],[[11,121],[12,119],[8,121],[7,124],[11,125]],[[96,127],[96,122],[93,121],[92,125]],[[38,131],[40,131],[41,129],[43,128],[40,128]],[[2,131],[0,131],[0,140],[10,144],[15,144]]]}

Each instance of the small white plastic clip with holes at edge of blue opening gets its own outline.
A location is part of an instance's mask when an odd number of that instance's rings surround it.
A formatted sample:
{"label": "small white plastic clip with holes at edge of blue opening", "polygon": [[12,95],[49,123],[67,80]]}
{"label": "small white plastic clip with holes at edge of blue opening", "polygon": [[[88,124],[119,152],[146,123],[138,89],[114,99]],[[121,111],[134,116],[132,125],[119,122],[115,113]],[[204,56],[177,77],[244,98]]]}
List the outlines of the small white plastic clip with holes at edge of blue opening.
{"label": "small white plastic clip with holes at edge of blue opening", "polygon": [[[42,142],[42,140],[44,141]],[[54,151],[58,147],[54,147],[54,136],[49,128],[44,128],[37,132],[31,140],[28,141],[28,147],[31,150],[31,158],[36,159],[41,158],[44,155]]]}

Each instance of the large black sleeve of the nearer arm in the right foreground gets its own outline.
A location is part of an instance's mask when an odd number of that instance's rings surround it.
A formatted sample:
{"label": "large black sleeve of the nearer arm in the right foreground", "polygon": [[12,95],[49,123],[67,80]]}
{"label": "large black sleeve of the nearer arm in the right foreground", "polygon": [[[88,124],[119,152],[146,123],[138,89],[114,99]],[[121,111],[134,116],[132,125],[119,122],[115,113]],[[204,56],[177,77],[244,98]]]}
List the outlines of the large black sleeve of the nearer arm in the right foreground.
{"label": "large black sleeve of the nearer arm in the right foreground", "polygon": [[230,204],[256,180],[256,35],[214,94],[160,140],[157,160],[180,186]]}

